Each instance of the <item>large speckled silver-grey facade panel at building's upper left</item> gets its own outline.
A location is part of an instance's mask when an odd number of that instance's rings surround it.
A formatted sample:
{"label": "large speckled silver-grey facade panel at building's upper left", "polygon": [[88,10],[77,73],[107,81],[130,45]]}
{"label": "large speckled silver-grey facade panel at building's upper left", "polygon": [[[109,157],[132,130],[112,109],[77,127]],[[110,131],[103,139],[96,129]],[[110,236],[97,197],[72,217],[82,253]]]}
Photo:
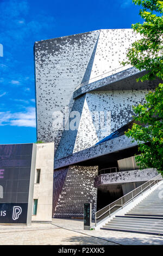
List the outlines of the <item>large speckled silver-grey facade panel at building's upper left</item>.
{"label": "large speckled silver-grey facade panel at building's upper left", "polygon": [[35,42],[37,140],[54,141],[62,130],[53,129],[53,112],[73,106],[74,88],[90,78],[99,31]]}

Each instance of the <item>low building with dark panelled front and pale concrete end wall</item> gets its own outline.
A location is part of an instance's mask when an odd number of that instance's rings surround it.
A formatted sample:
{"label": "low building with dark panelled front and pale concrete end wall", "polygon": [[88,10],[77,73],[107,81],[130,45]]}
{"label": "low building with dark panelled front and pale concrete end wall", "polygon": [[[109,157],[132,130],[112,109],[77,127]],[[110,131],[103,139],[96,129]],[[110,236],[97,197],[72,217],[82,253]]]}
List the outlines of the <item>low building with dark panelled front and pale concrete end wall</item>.
{"label": "low building with dark panelled front and pale concrete end wall", "polygon": [[0,223],[52,221],[54,143],[0,145]]}

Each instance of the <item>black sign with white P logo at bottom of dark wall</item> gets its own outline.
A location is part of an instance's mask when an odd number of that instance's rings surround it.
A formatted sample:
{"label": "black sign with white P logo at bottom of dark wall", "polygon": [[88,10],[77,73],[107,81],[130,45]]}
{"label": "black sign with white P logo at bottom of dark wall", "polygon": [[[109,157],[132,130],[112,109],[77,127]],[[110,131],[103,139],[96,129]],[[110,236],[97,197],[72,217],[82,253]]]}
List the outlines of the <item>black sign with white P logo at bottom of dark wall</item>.
{"label": "black sign with white P logo at bottom of dark wall", "polygon": [[28,204],[0,204],[0,223],[27,223]]}

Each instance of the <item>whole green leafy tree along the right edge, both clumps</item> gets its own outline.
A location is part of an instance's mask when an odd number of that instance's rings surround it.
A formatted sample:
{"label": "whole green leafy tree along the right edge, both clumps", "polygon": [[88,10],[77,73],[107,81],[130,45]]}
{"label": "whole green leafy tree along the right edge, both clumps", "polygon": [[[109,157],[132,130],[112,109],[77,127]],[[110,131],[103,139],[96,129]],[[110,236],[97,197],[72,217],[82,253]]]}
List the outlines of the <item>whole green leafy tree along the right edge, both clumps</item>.
{"label": "whole green leafy tree along the right edge, both clumps", "polygon": [[[153,80],[156,77],[162,80],[163,1],[133,0],[133,3],[142,6],[139,14],[145,21],[131,26],[141,38],[128,49],[127,60],[122,64],[131,64],[140,71],[148,70],[148,73],[137,81]],[[149,92],[145,98],[145,104],[133,106],[137,124],[133,124],[126,136],[139,145],[141,154],[136,156],[136,162],[140,169],[153,167],[163,176],[163,84],[160,83],[155,91]]]}

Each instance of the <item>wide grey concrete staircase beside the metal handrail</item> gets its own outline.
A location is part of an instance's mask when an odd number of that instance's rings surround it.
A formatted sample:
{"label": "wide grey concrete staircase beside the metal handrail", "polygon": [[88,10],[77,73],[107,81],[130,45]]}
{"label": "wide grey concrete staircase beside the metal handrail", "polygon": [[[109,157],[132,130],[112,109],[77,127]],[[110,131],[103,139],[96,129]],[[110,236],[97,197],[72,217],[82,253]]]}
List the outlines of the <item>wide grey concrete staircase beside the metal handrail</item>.
{"label": "wide grey concrete staircase beside the metal handrail", "polygon": [[163,198],[160,186],[122,216],[115,216],[101,229],[163,235]]}

